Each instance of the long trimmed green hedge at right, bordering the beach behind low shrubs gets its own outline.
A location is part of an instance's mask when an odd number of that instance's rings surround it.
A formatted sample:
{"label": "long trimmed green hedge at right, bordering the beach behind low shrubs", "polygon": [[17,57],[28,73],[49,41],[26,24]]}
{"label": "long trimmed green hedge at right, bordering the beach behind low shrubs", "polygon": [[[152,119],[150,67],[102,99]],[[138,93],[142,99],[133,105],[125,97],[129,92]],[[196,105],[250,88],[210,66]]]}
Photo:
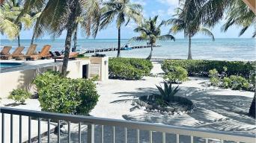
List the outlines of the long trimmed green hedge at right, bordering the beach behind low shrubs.
{"label": "long trimmed green hedge at right, bordering the beach behind low shrubs", "polygon": [[219,60],[165,60],[162,63],[162,70],[168,73],[173,66],[181,66],[186,69],[189,76],[202,76],[208,77],[211,69],[216,69],[220,73],[224,71],[223,67],[226,66],[228,71],[226,74],[241,75],[247,79],[255,70],[255,62],[243,61],[219,61]]}

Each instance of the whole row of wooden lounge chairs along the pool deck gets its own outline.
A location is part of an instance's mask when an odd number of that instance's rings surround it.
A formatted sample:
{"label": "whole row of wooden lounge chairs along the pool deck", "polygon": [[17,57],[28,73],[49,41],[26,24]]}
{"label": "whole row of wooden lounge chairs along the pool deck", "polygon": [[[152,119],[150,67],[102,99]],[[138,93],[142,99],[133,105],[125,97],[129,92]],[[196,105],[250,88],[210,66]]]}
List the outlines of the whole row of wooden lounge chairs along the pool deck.
{"label": "whole row of wooden lounge chairs along the pool deck", "polygon": [[[12,54],[10,54],[10,46],[4,46],[4,48],[1,50],[0,58],[1,60],[10,60],[10,59],[16,59],[16,60],[37,60],[37,59],[49,59],[52,57],[52,59],[55,60],[63,60],[64,55],[60,54],[58,51],[55,51],[55,54],[53,54],[50,51],[51,45],[44,45],[42,50],[39,52],[39,54],[35,54],[35,50],[37,48],[37,45],[33,44],[30,45],[28,48],[28,51],[26,54],[22,54],[22,51],[24,50],[24,47],[17,47]],[[70,52],[70,59],[75,59],[78,56],[77,52]]]}

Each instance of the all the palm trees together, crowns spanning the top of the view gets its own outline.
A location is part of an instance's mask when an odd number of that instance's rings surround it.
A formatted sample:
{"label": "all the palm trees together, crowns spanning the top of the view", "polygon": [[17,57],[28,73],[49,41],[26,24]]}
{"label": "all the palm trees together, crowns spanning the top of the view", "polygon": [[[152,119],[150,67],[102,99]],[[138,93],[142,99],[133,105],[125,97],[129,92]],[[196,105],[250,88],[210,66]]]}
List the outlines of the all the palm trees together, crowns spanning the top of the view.
{"label": "all the palm trees together, crowns spanning the top of the view", "polygon": [[[188,59],[192,59],[192,37],[196,34],[205,34],[215,39],[209,28],[213,28],[225,16],[227,22],[222,31],[227,31],[232,25],[242,27],[242,35],[250,26],[255,25],[255,13],[243,3],[242,0],[180,0],[177,13],[157,25],[158,16],[144,19],[141,4],[132,3],[130,0],[6,0],[1,1],[0,31],[10,39],[19,39],[19,32],[32,28],[34,24],[34,38],[50,34],[52,38],[61,36],[67,31],[65,39],[64,63],[62,74],[67,74],[68,56],[73,39],[76,51],[77,34],[81,29],[87,36],[97,36],[98,31],[107,28],[115,22],[118,29],[118,57],[121,56],[121,28],[132,20],[138,27],[134,29],[140,35],[133,37],[135,40],[147,40],[151,45],[152,57],[153,44],[156,40],[174,40],[177,32],[183,31],[189,39]],[[161,35],[161,27],[171,25],[168,34]],[[252,34],[255,36],[256,32]],[[18,40],[19,41],[19,40]]]}

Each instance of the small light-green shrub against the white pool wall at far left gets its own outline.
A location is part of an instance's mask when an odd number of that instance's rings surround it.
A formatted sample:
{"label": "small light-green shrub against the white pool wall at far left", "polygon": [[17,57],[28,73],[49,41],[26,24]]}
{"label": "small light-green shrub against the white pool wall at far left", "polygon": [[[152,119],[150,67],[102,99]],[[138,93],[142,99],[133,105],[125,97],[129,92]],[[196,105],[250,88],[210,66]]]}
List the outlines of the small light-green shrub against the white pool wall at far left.
{"label": "small light-green shrub against the white pool wall at far left", "polygon": [[25,100],[31,97],[31,93],[25,89],[13,89],[10,92],[10,99],[13,99],[18,104],[25,104]]}

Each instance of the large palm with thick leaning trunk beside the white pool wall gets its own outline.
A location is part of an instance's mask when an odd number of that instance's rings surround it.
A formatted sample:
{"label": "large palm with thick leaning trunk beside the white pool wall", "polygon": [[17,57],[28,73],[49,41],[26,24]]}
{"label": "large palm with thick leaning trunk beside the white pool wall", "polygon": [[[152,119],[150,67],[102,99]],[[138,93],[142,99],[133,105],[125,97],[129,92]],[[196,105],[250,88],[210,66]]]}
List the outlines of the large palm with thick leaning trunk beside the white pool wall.
{"label": "large palm with thick leaning trunk beside the white pool wall", "polygon": [[[61,36],[63,31],[67,31],[65,39],[65,51],[64,51],[64,61],[62,65],[61,74],[65,77],[67,75],[67,64],[70,54],[70,45],[73,32],[75,30],[76,19],[82,16],[85,21],[88,17],[94,17],[86,15],[86,10],[90,9],[88,7],[88,0],[65,0],[65,1],[47,1],[47,0],[25,0],[24,8],[19,14],[16,21],[19,20],[21,16],[25,13],[29,13],[34,9],[43,9],[40,16],[37,19],[34,28],[34,37],[37,38],[43,34],[50,34],[52,38]],[[97,20],[97,18],[92,20]],[[91,22],[85,28],[85,31],[91,31]],[[97,27],[97,26],[93,26]],[[89,32],[88,32],[89,33]]]}

